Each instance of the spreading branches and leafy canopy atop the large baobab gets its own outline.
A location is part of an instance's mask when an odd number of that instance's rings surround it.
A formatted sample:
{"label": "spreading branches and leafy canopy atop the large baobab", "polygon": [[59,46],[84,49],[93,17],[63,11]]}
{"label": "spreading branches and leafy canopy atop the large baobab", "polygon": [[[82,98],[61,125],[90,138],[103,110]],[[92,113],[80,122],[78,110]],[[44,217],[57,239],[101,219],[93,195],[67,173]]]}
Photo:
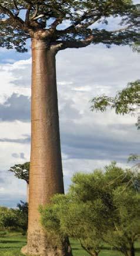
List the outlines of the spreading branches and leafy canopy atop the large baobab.
{"label": "spreading branches and leafy canopy atop the large baobab", "polygon": [[[118,16],[124,27],[108,30],[108,18]],[[139,34],[138,17],[131,0],[1,0],[0,46],[24,52],[32,37],[57,51],[91,43],[128,44]]]}

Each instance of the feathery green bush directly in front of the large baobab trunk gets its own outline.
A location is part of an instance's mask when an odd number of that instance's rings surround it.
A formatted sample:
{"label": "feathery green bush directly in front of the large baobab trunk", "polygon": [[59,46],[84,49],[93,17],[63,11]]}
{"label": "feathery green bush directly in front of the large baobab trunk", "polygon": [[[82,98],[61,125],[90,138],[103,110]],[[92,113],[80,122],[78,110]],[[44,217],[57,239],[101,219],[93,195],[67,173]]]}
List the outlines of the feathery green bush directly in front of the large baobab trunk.
{"label": "feathery green bush directly in front of the large baobab trunk", "polygon": [[114,212],[104,175],[100,171],[77,173],[72,181],[68,195],[55,195],[51,205],[41,208],[42,224],[52,237],[69,235],[79,240],[88,254],[97,256],[104,233],[112,227]]}

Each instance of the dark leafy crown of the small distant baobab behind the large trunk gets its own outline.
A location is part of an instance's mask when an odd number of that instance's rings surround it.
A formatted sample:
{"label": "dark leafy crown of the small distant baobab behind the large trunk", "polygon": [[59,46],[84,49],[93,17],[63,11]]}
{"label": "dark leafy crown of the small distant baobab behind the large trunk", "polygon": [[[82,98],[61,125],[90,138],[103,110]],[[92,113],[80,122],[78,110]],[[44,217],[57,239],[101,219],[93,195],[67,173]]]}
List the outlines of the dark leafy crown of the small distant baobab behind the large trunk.
{"label": "dark leafy crown of the small distant baobab behind the large trunk", "polygon": [[29,184],[29,162],[11,166],[9,171],[14,172],[16,178],[24,179]]}

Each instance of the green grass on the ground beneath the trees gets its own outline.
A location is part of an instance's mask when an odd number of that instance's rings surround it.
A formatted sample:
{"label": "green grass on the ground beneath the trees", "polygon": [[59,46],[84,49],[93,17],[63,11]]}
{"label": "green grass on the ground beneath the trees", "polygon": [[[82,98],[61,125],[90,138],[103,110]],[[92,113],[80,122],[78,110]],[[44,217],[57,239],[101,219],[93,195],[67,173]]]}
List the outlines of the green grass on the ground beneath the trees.
{"label": "green grass on the ground beneath the trees", "polygon": [[[21,256],[21,247],[26,244],[26,237],[17,232],[2,234],[0,232],[0,256]],[[72,252],[74,256],[88,256],[89,254],[82,250],[78,242],[71,240]],[[136,243],[136,255],[140,256],[140,244]],[[120,252],[108,250],[105,248],[99,256],[122,256]]]}

